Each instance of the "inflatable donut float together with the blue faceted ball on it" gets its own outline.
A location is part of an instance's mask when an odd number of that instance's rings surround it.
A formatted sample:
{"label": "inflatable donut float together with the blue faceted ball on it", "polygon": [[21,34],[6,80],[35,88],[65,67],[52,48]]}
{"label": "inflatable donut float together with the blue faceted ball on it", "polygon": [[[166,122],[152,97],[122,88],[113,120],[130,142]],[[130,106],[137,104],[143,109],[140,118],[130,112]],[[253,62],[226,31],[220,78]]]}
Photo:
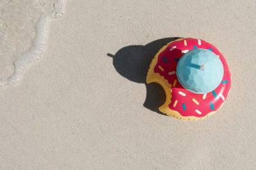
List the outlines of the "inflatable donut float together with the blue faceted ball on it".
{"label": "inflatable donut float together with the blue faceted ball on it", "polygon": [[[186,56],[194,61],[184,64]],[[191,63],[193,68],[186,69]],[[159,111],[181,120],[199,120],[216,112],[225,102],[231,86],[223,55],[211,43],[195,38],[180,38],[162,47],[150,63],[147,83],[150,82],[159,83],[166,93],[166,101]]]}

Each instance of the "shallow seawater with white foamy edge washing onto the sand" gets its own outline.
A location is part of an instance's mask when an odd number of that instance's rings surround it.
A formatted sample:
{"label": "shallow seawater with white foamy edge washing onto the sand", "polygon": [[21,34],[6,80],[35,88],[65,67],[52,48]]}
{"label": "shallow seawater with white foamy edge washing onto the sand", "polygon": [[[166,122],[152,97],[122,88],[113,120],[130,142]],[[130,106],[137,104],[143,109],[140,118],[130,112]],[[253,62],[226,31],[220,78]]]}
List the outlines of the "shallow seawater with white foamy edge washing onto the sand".
{"label": "shallow seawater with white foamy edge washing onto the sand", "polygon": [[49,22],[64,9],[65,0],[0,2],[0,86],[15,84],[29,63],[40,58]]}

